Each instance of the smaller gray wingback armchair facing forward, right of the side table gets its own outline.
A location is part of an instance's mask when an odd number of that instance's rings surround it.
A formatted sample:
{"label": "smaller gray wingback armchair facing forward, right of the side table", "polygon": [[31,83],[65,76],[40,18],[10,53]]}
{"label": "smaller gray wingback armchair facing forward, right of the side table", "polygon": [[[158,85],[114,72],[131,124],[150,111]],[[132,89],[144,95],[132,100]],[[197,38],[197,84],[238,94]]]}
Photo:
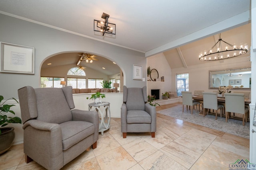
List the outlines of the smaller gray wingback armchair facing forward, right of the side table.
{"label": "smaller gray wingback armchair facing forward, right of the side table", "polygon": [[124,86],[124,98],[121,107],[121,131],[123,138],[127,132],[156,132],[156,107],[148,101],[146,86],[127,88]]}

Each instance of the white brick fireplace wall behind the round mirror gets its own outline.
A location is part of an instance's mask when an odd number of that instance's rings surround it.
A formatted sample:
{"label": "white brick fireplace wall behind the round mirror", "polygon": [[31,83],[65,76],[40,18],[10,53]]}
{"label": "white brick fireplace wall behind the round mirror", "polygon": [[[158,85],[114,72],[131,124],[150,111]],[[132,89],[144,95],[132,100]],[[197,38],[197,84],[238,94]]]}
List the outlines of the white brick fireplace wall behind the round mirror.
{"label": "white brick fireplace wall behind the round mirror", "polygon": [[[157,82],[147,83],[148,94],[151,94],[151,89],[160,89],[160,99],[162,98],[162,93],[171,91],[171,68],[164,57],[163,53],[154,55],[147,58],[147,67],[150,69],[155,68],[158,71],[159,78]],[[164,76],[164,82],[161,82],[161,77]],[[149,77],[150,78],[150,77]]]}

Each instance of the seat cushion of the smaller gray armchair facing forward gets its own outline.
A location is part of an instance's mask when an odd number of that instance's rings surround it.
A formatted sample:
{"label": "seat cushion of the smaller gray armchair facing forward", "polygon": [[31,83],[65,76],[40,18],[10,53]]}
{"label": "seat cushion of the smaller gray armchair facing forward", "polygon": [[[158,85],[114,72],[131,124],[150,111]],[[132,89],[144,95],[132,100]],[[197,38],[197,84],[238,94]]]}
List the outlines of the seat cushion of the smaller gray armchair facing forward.
{"label": "seat cushion of the smaller gray armchair facing forward", "polygon": [[127,123],[151,123],[151,116],[143,110],[129,110],[126,121]]}

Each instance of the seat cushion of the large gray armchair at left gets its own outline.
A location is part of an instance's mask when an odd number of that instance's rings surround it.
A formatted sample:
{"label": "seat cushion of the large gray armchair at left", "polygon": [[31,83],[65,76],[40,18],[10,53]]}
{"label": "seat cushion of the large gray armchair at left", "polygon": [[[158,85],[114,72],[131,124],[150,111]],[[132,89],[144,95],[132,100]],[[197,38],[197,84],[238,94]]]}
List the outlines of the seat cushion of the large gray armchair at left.
{"label": "seat cushion of the large gray armchair at left", "polygon": [[67,121],[60,124],[63,150],[94,133],[94,124],[86,121]]}

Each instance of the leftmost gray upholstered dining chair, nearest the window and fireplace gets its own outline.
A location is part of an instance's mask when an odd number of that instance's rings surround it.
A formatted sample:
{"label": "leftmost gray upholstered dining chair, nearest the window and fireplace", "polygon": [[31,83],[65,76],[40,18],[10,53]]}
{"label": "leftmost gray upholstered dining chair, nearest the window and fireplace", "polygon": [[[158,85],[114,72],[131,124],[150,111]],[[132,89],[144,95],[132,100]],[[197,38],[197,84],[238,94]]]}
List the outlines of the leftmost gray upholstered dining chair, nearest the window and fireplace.
{"label": "leftmost gray upholstered dining chair, nearest the window and fireplace", "polygon": [[191,114],[193,114],[193,107],[196,106],[196,112],[197,112],[197,106],[199,107],[199,112],[200,112],[200,102],[194,101],[192,98],[192,92],[186,92],[182,91],[182,112],[184,112],[184,105],[186,105],[187,110],[188,106],[191,106]]}

